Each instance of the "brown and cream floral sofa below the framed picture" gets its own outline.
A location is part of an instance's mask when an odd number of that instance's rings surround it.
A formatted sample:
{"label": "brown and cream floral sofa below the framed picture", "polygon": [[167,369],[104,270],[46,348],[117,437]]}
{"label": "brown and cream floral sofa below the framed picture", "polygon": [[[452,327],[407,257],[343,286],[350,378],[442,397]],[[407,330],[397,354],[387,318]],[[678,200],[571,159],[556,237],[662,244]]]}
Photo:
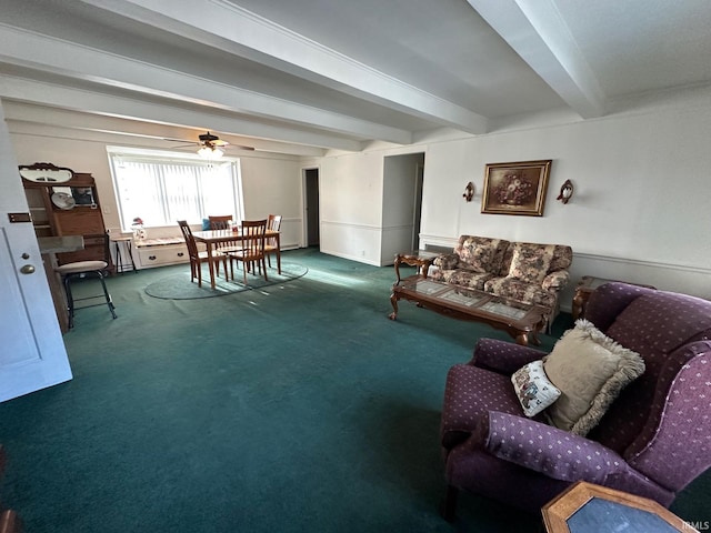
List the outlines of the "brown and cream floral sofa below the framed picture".
{"label": "brown and cream floral sofa below the framed picture", "polygon": [[560,309],[560,291],[570,280],[568,269],[572,259],[572,249],[564,244],[461,235],[453,252],[434,258],[430,276],[547,306],[552,321]]}

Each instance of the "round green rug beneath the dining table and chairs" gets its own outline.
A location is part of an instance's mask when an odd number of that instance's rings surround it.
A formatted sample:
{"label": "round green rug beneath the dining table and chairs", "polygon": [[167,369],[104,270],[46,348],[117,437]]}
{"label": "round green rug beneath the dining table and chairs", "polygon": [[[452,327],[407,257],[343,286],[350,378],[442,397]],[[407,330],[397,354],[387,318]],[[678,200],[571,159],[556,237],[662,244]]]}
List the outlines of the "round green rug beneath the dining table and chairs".
{"label": "round green rug beneath the dining table and chairs", "polygon": [[[274,265],[276,266],[276,265]],[[153,298],[167,300],[193,300],[196,298],[212,298],[234,294],[236,292],[262,289],[297,280],[304,275],[309,269],[299,263],[281,262],[281,274],[277,269],[267,269],[267,278],[247,273],[247,285],[241,270],[234,272],[234,279],[226,280],[222,275],[216,278],[214,289],[210,286],[210,273],[208,268],[202,269],[202,286],[190,279],[190,268],[183,265],[177,274],[166,275],[146,286],[146,293]],[[220,271],[222,272],[222,271]]]}

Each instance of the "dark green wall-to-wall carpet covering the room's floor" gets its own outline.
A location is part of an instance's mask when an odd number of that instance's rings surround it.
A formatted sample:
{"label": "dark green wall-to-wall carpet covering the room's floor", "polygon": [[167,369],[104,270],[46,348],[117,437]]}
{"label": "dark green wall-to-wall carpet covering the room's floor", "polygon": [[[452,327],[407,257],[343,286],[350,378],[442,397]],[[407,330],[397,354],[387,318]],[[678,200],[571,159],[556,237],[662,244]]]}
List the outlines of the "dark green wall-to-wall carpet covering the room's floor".
{"label": "dark green wall-to-wall carpet covering the room's floor", "polygon": [[[0,404],[0,497],[28,533],[540,532],[470,494],[455,526],[438,514],[447,371],[508,335],[404,301],[388,320],[392,268],[284,259],[309,272],[229,298],[146,294],[184,265],[108,280],[119,318],[64,335],[74,379]],[[709,520],[710,495],[707,474],[672,510]]]}

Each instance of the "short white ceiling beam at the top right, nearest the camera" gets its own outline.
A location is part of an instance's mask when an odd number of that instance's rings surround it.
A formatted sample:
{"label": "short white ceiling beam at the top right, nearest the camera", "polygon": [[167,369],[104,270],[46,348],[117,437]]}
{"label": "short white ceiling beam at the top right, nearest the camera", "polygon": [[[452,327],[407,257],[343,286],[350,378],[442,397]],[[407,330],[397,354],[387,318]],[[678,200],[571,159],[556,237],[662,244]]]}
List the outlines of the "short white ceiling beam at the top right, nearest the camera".
{"label": "short white ceiling beam at the top right, nearest the camera", "polygon": [[604,94],[555,0],[467,1],[578,114],[604,114]]}

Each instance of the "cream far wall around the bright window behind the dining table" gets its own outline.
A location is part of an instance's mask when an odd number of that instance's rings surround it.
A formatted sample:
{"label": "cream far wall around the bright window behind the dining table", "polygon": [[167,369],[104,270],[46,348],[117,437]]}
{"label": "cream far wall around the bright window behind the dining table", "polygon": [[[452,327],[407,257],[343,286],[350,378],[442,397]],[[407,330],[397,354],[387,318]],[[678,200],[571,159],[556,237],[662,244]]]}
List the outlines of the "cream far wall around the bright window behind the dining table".
{"label": "cream far wall around the bright window behind the dining table", "polygon": [[[71,132],[66,133],[67,137]],[[107,144],[120,145],[120,138],[107,135],[106,142],[77,141],[61,137],[12,133],[11,139],[19,164],[49,162],[76,172],[89,172],[97,182],[99,200],[107,229],[120,231],[116,194],[111,180]],[[151,148],[151,147],[141,147]],[[164,145],[154,147],[164,149]],[[298,248],[303,243],[301,178],[298,158],[262,153],[240,153],[242,192],[247,218],[281,214],[282,248]],[[19,177],[18,177],[19,179]],[[150,229],[148,237],[180,235],[178,225]]]}

